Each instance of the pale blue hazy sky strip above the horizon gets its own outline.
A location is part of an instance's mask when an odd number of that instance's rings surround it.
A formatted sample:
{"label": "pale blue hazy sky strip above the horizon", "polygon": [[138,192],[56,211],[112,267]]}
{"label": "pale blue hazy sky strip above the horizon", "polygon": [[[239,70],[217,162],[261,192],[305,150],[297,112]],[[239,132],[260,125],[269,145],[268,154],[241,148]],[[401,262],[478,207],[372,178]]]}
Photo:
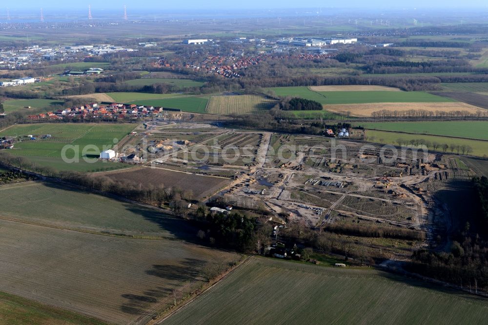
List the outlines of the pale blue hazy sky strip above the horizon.
{"label": "pale blue hazy sky strip above the horizon", "polygon": [[[245,1],[230,1],[230,0],[181,0],[181,1],[161,1],[161,0],[82,0],[82,1],[66,1],[66,0],[21,0],[21,1],[1,1],[0,8],[7,7],[11,9],[37,9],[43,8],[86,8],[91,4],[92,9],[112,9],[115,10],[122,7],[124,4],[127,8],[132,9],[153,9],[153,10],[191,10],[191,9],[263,9],[263,8],[326,8],[326,7],[355,7],[368,9],[387,9],[395,8],[401,9],[403,7],[408,9],[418,8],[487,8],[486,0],[408,0],[408,1],[391,1],[391,0],[347,0],[347,1],[324,1],[324,0],[245,0]],[[4,9],[4,10],[5,10]]]}

